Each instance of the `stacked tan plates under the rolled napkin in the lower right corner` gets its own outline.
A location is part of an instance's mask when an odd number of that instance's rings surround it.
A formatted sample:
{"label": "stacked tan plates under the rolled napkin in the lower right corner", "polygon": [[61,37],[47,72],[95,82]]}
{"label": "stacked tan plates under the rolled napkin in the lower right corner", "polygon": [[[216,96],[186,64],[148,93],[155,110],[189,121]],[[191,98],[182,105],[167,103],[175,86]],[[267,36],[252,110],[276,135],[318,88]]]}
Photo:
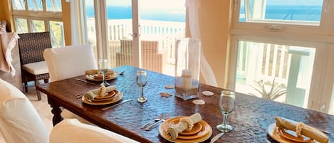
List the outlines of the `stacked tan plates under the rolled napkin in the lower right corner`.
{"label": "stacked tan plates under the rolled napkin in the lower right corner", "polygon": [[281,127],[276,127],[276,123],[269,125],[268,134],[276,141],[282,143],[295,143],[295,142],[311,143],[314,140],[306,136],[296,137],[296,132],[293,132],[288,129],[283,129]]}

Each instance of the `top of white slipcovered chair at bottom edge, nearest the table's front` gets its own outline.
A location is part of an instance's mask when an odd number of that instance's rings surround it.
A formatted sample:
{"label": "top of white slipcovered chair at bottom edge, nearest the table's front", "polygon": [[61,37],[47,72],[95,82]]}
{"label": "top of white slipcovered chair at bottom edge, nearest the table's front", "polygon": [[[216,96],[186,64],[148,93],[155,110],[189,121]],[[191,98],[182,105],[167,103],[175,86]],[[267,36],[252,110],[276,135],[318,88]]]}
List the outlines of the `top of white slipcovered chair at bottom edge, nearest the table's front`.
{"label": "top of white slipcovered chair at bottom edge, nearest the table's front", "polygon": [[86,125],[76,119],[66,119],[56,125],[50,134],[50,143],[138,143],[100,127]]}

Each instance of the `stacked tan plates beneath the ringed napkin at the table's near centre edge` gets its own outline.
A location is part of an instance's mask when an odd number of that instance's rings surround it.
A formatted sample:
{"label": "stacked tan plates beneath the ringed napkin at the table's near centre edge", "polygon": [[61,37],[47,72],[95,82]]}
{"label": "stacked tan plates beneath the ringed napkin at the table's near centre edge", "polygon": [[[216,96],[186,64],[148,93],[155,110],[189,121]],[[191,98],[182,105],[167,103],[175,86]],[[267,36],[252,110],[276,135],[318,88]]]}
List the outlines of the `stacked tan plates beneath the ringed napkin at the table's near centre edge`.
{"label": "stacked tan plates beneath the ringed napkin at the table's near centre edge", "polygon": [[179,142],[179,143],[197,143],[197,142],[203,142],[212,135],[212,127],[205,122],[204,120],[201,120],[194,124],[194,127],[190,131],[183,131],[179,133],[179,136],[177,139],[171,139],[169,135],[167,134],[167,129],[171,125],[177,125],[179,123],[179,119],[182,117],[174,117],[169,120],[166,120],[163,122],[159,127],[159,134],[161,137],[167,139],[170,142]]}

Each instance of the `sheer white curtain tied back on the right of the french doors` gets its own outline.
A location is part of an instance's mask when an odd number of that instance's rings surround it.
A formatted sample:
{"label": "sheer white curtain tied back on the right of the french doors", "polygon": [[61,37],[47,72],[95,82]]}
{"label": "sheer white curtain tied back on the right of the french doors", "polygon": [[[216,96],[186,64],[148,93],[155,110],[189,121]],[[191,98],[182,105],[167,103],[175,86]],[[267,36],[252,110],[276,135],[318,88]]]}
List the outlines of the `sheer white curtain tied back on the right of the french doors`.
{"label": "sheer white curtain tied back on the right of the french doors", "polygon": [[[198,9],[200,7],[199,0],[186,0],[186,7],[189,11],[189,29],[191,33],[191,38],[196,38],[201,40],[201,33],[199,31],[199,16]],[[217,86],[216,78],[214,72],[212,71],[211,66],[207,62],[207,59],[204,56],[203,46],[201,48],[201,73],[207,85]]]}

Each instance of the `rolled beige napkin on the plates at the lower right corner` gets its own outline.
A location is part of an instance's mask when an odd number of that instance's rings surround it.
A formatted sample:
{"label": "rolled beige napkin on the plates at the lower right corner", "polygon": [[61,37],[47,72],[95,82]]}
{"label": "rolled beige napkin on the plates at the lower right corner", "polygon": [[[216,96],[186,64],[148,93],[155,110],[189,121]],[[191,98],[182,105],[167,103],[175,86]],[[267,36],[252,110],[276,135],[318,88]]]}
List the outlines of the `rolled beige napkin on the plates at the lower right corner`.
{"label": "rolled beige napkin on the plates at the lower right corner", "polygon": [[[283,129],[288,129],[296,132],[296,127],[298,125],[303,124],[302,122],[296,122],[293,120],[288,120],[283,117],[275,117],[276,120],[276,127],[282,127]],[[298,127],[297,127],[298,128]],[[305,135],[306,137],[310,137],[311,139],[315,139],[320,143],[327,143],[329,142],[329,138],[321,132],[319,129],[315,129],[314,127],[310,127],[308,125],[301,125],[301,134]]]}

